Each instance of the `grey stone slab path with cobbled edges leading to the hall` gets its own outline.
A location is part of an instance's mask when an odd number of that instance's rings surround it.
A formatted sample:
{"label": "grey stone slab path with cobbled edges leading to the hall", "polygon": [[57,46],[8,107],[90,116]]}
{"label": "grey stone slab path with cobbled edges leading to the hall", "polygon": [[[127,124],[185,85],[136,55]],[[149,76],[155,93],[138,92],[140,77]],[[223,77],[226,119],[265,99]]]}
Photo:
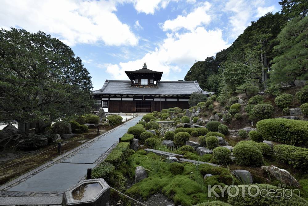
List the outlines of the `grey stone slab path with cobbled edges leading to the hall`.
{"label": "grey stone slab path with cobbled edges leading to the hall", "polygon": [[62,192],[85,178],[88,167],[95,167],[116,146],[129,127],[142,116],[90,140],[70,154],[64,154],[0,187],[3,197],[62,196]]}

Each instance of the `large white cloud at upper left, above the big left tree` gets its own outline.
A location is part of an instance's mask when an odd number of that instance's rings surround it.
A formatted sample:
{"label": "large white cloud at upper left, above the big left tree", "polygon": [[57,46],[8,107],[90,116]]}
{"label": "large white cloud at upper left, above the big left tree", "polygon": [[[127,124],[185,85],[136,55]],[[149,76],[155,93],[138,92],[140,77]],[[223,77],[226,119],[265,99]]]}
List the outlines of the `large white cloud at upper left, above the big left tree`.
{"label": "large white cloud at upper left, above the big left tree", "polygon": [[115,2],[44,0],[3,0],[0,27],[22,27],[27,31],[50,33],[73,46],[76,43],[137,45],[138,38],[115,15]]}

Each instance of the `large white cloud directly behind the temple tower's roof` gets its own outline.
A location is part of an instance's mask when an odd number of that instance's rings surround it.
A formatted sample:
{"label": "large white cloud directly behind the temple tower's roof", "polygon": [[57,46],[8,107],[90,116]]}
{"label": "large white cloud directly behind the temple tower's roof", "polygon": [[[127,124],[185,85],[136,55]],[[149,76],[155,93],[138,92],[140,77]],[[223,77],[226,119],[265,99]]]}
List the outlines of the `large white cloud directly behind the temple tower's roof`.
{"label": "large white cloud directly behind the temple tower's roof", "polygon": [[[203,27],[197,27],[183,34],[167,34],[167,38],[156,47],[155,51],[148,52],[141,59],[105,64],[103,68],[113,79],[124,80],[128,79],[124,71],[142,68],[145,61],[149,69],[163,71],[163,79],[173,79],[175,74],[181,71],[177,65],[186,68],[187,65],[192,65],[194,60],[204,60],[207,56],[214,56],[217,51],[228,46],[222,39],[221,30],[207,31]],[[102,68],[101,65],[100,67]]]}

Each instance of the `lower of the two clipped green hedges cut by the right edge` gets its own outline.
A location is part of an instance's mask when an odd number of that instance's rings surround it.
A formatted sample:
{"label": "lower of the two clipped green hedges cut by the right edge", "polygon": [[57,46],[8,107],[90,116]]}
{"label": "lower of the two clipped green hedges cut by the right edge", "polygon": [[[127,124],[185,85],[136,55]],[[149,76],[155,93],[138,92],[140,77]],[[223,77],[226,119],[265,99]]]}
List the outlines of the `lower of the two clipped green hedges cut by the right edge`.
{"label": "lower of the two clipped green hedges cut by the right edge", "polygon": [[307,171],[307,148],[292,145],[275,145],[273,151],[279,162],[289,164],[298,170]]}

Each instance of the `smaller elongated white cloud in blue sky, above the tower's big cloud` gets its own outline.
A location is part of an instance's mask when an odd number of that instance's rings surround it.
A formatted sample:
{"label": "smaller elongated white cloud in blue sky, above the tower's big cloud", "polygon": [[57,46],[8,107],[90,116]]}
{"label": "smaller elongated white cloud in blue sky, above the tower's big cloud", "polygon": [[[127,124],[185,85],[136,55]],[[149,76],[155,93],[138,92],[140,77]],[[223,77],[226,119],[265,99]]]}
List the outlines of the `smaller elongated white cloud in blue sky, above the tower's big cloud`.
{"label": "smaller elongated white cloud in blue sky, above the tower's big cloud", "polygon": [[185,28],[192,31],[197,26],[208,24],[211,21],[211,16],[207,14],[210,7],[211,4],[209,2],[204,2],[201,6],[195,8],[186,16],[179,15],[176,19],[165,21],[162,29],[163,31],[178,31],[181,28]]}

